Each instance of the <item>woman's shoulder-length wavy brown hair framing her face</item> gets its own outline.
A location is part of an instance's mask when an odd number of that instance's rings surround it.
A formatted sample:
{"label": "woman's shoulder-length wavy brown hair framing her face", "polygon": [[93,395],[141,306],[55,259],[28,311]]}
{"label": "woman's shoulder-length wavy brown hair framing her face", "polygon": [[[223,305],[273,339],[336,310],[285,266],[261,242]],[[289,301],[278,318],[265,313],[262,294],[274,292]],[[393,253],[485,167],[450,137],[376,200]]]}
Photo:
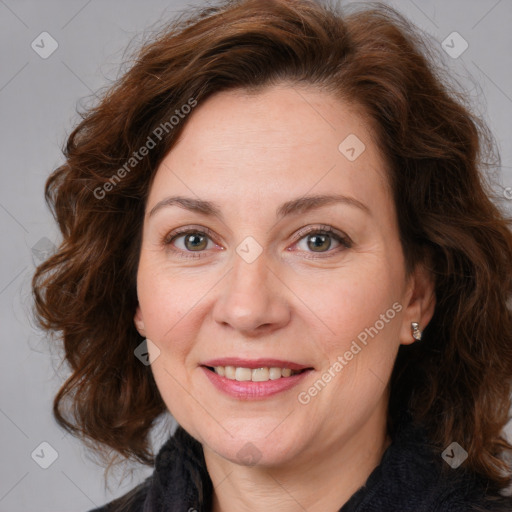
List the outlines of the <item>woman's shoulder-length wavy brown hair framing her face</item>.
{"label": "woman's shoulder-length wavy brown hair framing her face", "polygon": [[[37,268],[33,294],[40,325],[62,339],[72,370],[54,399],[57,422],[97,452],[153,464],[149,434],[166,407],[134,356],[143,338],[133,316],[148,190],[188,117],[169,119],[217,91],[308,84],[372,120],[407,272],[423,264],[435,279],[423,340],[399,350],[389,427],[405,405],[435,445],[456,440],[466,467],[496,489],[507,485],[512,220],[489,180],[499,163],[492,136],[438,57],[382,4],[342,13],[308,0],[224,1],[182,12],[146,41],[81,113],[66,161],[46,183],[63,239]],[[142,155],[148,137],[156,144]]]}

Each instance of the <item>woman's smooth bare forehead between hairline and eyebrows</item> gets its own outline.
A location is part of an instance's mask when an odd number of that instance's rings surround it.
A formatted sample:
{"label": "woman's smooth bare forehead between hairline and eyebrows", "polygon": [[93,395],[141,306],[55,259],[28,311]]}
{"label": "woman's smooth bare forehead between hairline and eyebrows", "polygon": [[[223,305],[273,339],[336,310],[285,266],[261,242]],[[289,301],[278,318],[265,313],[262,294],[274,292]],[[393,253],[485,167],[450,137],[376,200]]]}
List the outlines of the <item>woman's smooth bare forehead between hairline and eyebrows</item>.
{"label": "woman's smooth bare forehead between hairline and eyebrows", "polygon": [[364,116],[313,87],[278,85],[200,103],[156,172],[148,208],[170,193],[261,207],[308,192],[389,208],[384,162]]}

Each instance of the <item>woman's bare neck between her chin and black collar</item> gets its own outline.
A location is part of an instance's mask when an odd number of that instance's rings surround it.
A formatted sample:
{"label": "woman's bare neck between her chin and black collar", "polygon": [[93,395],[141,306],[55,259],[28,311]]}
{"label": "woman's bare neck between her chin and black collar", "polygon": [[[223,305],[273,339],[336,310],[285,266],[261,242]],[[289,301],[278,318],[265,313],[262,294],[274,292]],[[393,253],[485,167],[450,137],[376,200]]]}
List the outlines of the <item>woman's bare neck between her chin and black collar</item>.
{"label": "woman's bare neck between her chin and black collar", "polygon": [[287,465],[240,466],[205,449],[212,511],[338,511],[365,484],[390,442],[386,410],[379,408],[337,444],[311,446]]}

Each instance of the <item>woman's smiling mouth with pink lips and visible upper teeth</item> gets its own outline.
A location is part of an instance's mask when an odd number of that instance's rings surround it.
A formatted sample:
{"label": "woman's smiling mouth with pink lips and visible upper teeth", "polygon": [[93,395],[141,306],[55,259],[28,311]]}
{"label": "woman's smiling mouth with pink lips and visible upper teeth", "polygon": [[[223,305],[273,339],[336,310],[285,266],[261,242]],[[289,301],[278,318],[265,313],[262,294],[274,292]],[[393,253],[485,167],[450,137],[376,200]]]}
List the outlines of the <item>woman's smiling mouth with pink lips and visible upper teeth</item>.
{"label": "woman's smiling mouth with pink lips and visible upper teeth", "polygon": [[239,399],[258,399],[295,386],[312,367],[277,359],[223,358],[201,367],[224,393]]}

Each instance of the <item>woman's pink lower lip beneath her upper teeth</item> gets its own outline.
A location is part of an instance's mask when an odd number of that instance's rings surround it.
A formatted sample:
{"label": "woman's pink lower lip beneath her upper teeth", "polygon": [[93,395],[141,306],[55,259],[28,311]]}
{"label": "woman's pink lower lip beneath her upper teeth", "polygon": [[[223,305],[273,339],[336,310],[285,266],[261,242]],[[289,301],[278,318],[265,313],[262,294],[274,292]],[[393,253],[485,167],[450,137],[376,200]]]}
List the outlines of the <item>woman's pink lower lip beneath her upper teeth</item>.
{"label": "woman's pink lower lip beneath her upper teeth", "polygon": [[253,382],[251,380],[238,381],[221,377],[217,373],[201,366],[210,382],[223,393],[240,400],[259,400],[267,398],[282,391],[293,388],[301,382],[311,370],[306,370],[290,377],[281,377],[265,382]]}

